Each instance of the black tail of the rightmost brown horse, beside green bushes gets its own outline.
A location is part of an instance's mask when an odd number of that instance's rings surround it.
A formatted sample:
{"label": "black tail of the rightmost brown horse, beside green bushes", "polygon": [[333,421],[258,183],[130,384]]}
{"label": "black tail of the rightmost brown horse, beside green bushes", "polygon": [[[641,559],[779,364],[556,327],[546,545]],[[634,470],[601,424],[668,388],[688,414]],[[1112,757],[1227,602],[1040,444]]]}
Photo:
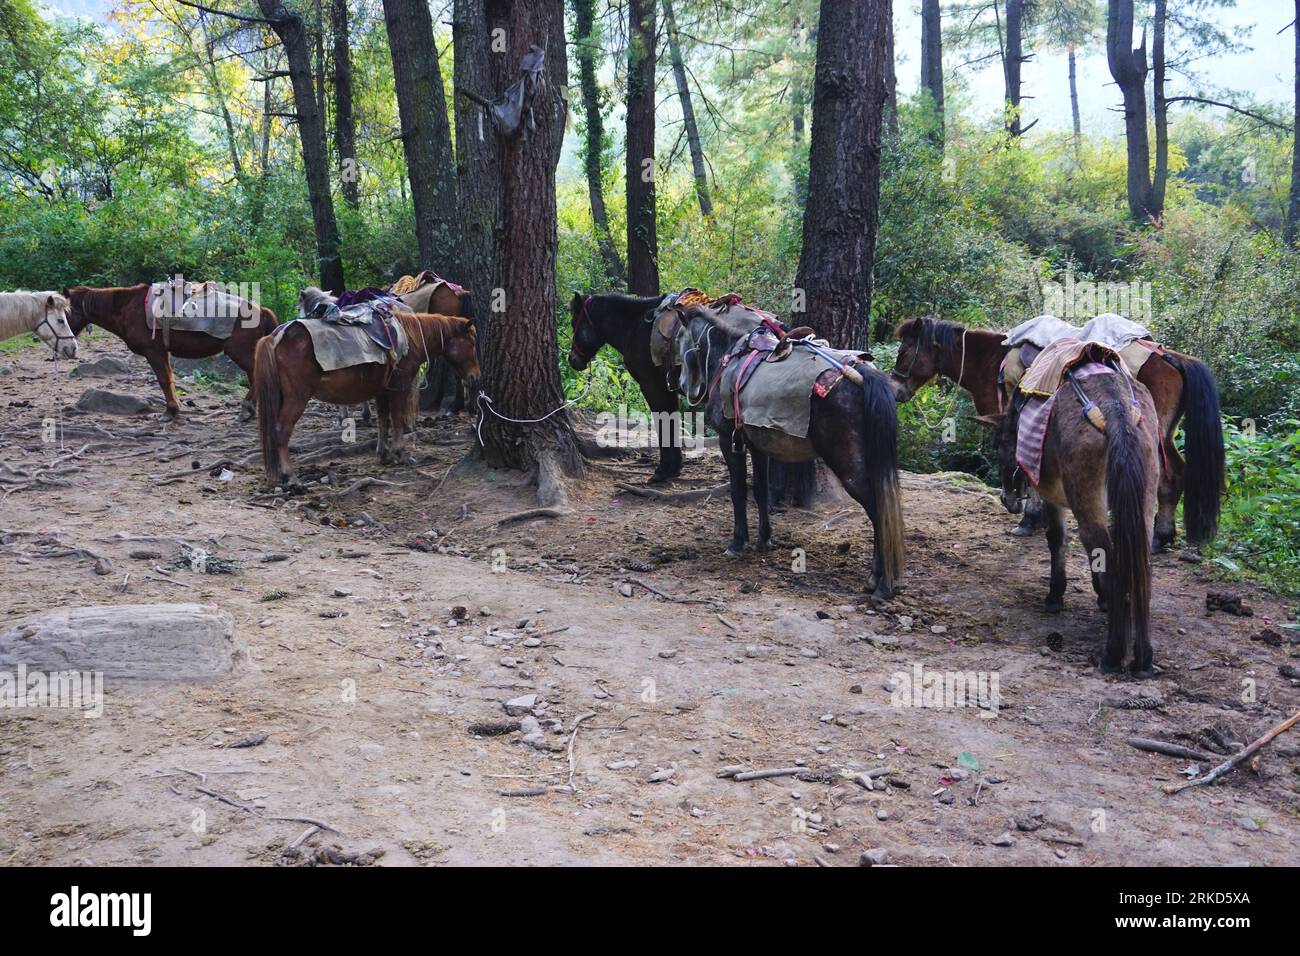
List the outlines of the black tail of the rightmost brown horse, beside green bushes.
{"label": "black tail of the rightmost brown horse, beside green bushes", "polygon": [[1183,524],[1193,545],[1208,544],[1218,532],[1223,490],[1223,419],[1214,373],[1200,359],[1176,356],[1183,375],[1183,434],[1187,471],[1183,475]]}

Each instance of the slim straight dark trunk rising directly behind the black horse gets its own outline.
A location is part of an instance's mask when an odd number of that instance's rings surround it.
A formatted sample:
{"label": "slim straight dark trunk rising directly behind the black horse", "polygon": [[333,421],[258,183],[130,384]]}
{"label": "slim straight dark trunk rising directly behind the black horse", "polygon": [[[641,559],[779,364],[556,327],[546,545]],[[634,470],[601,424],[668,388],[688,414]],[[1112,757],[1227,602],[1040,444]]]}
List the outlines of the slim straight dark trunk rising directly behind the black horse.
{"label": "slim straight dark trunk rising directly behind the black horse", "polygon": [[628,0],[628,285],[659,294],[654,194],[654,0]]}

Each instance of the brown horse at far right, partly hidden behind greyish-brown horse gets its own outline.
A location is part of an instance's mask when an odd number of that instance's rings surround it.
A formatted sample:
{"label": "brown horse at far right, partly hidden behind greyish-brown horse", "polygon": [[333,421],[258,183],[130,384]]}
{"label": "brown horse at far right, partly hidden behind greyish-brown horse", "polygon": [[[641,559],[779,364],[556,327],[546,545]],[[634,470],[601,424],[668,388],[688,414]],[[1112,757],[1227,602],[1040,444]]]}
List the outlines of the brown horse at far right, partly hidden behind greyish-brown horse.
{"label": "brown horse at far right, partly hidden behind greyish-brown horse", "polygon": [[[902,323],[894,334],[900,345],[892,375],[900,386],[898,401],[910,399],[926,382],[942,376],[971,394],[979,415],[1005,411],[998,369],[1009,349],[1001,332],[927,316]],[[1162,550],[1174,540],[1174,512],[1184,492],[1187,540],[1193,545],[1212,541],[1223,489],[1223,425],[1214,376],[1204,362],[1166,349],[1143,364],[1138,381],[1147,386],[1160,415],[1162,467],[1153,545]],[[1184,427],[1186,464],[1174,444],[1179,423]]]}

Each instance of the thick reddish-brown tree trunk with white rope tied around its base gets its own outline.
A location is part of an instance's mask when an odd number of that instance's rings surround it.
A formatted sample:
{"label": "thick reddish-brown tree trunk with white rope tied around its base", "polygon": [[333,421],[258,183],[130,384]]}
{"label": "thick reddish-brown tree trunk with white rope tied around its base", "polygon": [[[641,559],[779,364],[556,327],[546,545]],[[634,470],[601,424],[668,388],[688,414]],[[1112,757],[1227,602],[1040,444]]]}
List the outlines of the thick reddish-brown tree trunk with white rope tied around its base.
{"label": "thick reddish-brown tree trunk with white rope tied around its base", "polygon": [[[499,228],[490,232],[494,280],[478,291],[480,297],[488,291],[489,298],[499,294],[503,306],[503,315],[494,315],[480,329],[478,351],[482,403],[490,408],[482,418],[484,458],[493,467],[536,467],[541,503],[560,506],[562,475],[581,470],[568,412],[552,414],[564,403],[555,336],[555,168],[564,138],[568,79],[564,4],[458,0],[455,18],[458,40],[473,35],[464,62],[458,44],[456,64],[462,69],[456,86],[489,100],[523,75],[520,62],[530,46],[546,51],[541,83],[525,87],[525,113],[532,112],[536,127],[528,130],[526,139],[524,130],[497,134],[497,176],[489,179],[474,174],[477,187],[488,195],[488,213],[499,217]],[[494,30],[503,31],[497,34],[504,38],[502,52],[489,51]],[[474,87],[474,78],[484,85]],[[469,124],[477,126],[464,117],[458,127]]]}

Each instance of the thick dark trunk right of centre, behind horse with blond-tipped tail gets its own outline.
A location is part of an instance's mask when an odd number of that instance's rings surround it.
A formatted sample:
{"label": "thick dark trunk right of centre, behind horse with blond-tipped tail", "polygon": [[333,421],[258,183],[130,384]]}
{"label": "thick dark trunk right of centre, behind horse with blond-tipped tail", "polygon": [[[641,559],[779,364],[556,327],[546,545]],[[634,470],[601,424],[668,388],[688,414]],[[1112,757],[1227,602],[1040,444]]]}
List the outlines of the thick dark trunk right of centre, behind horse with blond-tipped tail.
{"label": "thick dark trunk right of centre, behind horse with blond-tipped tail", "polygon": [[[890,0],[822,0],[796,293],[832,345],[866,349],[880,206]],[[797,310],[796,310],[797,311]]]}

